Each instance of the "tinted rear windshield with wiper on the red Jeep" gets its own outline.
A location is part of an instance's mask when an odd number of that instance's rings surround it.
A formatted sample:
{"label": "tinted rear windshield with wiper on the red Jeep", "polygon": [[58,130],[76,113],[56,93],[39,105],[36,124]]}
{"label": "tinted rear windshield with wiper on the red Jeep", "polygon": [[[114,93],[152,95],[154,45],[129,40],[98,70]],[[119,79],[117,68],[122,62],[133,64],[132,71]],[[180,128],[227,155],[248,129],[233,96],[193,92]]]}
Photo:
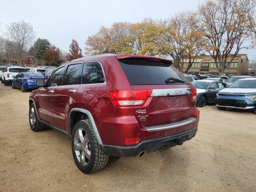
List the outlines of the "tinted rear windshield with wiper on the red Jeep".
{"label": "tinted rear windshield with wiper on the red Jeep", "polygon": [[190,84],[169,63],[137,59],[121,59],[119,63],[130,85]]}

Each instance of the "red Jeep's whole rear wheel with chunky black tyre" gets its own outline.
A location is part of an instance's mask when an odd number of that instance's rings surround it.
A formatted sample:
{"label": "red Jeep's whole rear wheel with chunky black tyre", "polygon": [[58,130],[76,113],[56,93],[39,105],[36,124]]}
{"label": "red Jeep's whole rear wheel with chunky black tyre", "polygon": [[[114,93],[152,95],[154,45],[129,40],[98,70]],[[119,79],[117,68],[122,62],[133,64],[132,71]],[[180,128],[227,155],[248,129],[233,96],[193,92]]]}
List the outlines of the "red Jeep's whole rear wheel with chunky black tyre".
{"label": "red Jeep's whole rear wheel with chunky black tyre", "polygon": [[81,120],[74,126],[72,154],[76,166],[83,173],[101,170],[108,163],[108,156],[101,150],[90,120]]}

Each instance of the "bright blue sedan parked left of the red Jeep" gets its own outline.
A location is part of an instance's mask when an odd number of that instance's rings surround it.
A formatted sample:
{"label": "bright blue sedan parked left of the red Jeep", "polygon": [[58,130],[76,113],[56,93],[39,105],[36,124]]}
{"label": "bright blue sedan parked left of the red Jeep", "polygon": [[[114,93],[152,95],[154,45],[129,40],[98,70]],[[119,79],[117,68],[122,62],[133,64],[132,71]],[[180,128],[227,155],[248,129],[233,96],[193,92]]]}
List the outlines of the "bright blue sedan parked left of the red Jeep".
{"label": "bright blue sedan parked left of the red Jeep", "polygon": [[37,89],[38,87],[35,85],[37,79],[47,80],[42,73],[38,72],[23,72],[12,77],[12,88],[20,88],[22,92],[26,92],[29,89]]}

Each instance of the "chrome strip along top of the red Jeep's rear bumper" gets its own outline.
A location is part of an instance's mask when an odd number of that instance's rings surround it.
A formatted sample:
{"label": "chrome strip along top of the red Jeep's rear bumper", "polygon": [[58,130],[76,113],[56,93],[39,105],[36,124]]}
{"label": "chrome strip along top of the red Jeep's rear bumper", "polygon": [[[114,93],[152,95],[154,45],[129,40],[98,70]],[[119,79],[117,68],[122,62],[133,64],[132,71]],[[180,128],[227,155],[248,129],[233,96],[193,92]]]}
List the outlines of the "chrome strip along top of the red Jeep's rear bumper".
{"label": "chrome strip along top of the red Jeep's rear bumper", "polygon": [[190,117],[188,119],[174,122],[174,123],[169,123],[169,124],[164,124],[164,125],[157,125],[157,126],[151,126],[151,127],[144,127],[147,131],[157,131],[157,130],[164,130],[164,129],[170,129],[170,128],[175,128],[179,126],[184,126],[187,124],[190,124],[192,122],[195,122],[196,118]]}

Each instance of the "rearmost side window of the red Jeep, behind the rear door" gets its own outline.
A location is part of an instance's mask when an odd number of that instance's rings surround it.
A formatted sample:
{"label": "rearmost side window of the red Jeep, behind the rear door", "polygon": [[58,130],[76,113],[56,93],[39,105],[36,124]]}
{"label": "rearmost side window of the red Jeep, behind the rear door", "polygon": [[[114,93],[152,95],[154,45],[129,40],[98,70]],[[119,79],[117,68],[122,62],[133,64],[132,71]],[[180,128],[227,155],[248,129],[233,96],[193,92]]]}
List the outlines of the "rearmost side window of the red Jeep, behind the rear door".
{"label": "rearmost side window of the red Jeep, behind the rear door", "polygon": [[82,84],[104,83],[105,78],[99,62],[84,63]]}

